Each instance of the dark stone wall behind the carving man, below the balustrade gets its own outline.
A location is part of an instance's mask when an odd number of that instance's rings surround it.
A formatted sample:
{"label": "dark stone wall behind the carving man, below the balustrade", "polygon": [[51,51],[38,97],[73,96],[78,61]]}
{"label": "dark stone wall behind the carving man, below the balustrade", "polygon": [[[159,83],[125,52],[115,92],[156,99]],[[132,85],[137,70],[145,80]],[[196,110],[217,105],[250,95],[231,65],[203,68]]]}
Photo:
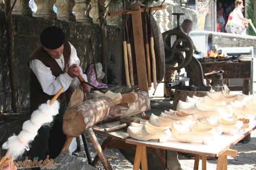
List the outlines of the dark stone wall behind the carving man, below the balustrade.
{"label": "dark stone wall behind the carving man, below the balustrade", "polygon": [[[0,25],[4,23],[4,16],[0,13]],[[29,106],[29,67],[27,60],[29,55],[40,45],[40,33],[49,26],[57,26],[63,29],[66,39],[75,46],[80,59],[83,72],[87,71],[92,63],[91,47],[88,36],[94,41],[94,55],[96,62],[101,62],[101,32],[98,24],[83,22],[69,22],[51,20],[31,16],[13,15],[14,49],[17,74],[17,86],[19,93],[19,108]],[[116,39],[119,28],[106,26],[107,57],[115,53]],[[0,33],[0,106],[3,111],[11,110],[11,87],[9,77],[7,39]]]}

